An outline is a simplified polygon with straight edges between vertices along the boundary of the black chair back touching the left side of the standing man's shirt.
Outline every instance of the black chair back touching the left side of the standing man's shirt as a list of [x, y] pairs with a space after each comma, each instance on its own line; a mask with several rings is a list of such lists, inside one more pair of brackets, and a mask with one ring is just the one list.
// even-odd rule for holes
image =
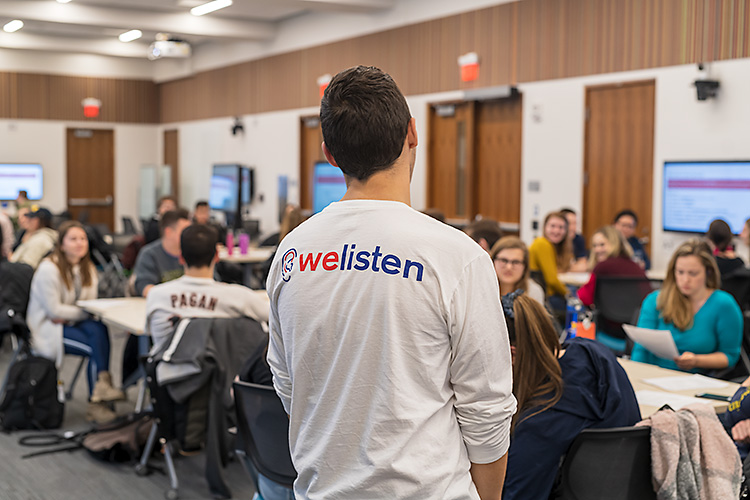
[[273, 387], [234, 382], [234, 399], [245, 453], [258, 472], [291, 488], [297, 471], [289, 453], [289, 418]]

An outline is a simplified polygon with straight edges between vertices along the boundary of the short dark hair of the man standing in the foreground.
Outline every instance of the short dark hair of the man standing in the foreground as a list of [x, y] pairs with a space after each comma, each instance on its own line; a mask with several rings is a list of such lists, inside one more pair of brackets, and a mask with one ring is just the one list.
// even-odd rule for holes
[[401, 156], [410, 120], [396, 82], [372, 66], [356, 66], [333, 77], [320, 102], [326, 148], [344, 174], [360, 181]]

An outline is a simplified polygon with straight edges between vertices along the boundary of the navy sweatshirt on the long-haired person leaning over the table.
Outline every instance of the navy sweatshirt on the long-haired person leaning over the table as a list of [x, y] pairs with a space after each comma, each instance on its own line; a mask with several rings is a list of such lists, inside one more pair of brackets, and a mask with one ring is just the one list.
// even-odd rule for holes
[[560, 401], [526, 420], [534, 409], [524, 410], [511, 434], [503, 500], [548, 498], [560, 459], [582, 430], [641, 420], [633, 386], [609, 349], [581, 338], [563, 349]]

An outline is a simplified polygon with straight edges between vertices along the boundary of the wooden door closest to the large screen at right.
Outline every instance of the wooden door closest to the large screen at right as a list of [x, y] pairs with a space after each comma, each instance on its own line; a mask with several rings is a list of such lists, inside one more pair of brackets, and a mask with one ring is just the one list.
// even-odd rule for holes
[[[586, 89], [583, 232], [611, 224], [629, 208], [639, 238], [651, 233], [654, 81]], [[647, 249], [648, 250], [648, 249]]]

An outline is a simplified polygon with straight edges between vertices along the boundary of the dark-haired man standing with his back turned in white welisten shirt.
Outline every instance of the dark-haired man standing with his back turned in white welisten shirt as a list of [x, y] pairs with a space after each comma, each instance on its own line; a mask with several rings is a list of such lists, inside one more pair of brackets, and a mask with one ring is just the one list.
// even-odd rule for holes
[[295, 494], [498, 499], [516, 402], [487, 252], [410, 208], [417, 132], [390, 76], [339, 73], [320, 119], [347, 191], [284, 238], [267, 284]]

